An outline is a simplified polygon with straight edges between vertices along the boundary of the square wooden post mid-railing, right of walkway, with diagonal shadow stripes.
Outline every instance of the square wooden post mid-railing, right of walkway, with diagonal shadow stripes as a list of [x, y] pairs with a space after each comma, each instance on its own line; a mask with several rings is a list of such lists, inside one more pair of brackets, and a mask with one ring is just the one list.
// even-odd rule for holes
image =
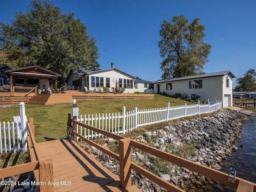
[[120, 185], [124, 189], [132, 186], [130, 142], [128, 138], [119, 141]]

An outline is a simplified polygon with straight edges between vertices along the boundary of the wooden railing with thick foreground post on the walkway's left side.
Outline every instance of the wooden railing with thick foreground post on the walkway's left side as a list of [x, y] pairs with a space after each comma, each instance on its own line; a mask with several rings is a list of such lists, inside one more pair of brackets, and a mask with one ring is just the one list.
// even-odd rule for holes
[[46, 185], [37, 185], [38, 190], [40, 190], [41, 192], [52, 192], [53, 185], [47, 185], [49, 181], [53, 182], [52, 160], [42, 160], [40, 154], [38, 154], [38, 149], [36, 147], [36, 141], [34, 138], [33, 118], [29, 118], [28, 131], [28, 149], [30, 153], [30, 162], [7, 168], [2, 168], [0, 169], [0, 177], [6, 178], [33, 171], [35, 182], [46, 182]]

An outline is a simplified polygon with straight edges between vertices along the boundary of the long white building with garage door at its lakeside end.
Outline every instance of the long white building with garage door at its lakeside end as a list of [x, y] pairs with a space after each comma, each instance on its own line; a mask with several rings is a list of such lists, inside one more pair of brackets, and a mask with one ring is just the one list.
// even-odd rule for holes
[[236, 78], [231, 71], [208, 73], [168, 80], [152, 82], [157, 93], [182, 96], [196, 94], [200, 100], [222, 100], [222, 107], [232, 106], [232, 78]]

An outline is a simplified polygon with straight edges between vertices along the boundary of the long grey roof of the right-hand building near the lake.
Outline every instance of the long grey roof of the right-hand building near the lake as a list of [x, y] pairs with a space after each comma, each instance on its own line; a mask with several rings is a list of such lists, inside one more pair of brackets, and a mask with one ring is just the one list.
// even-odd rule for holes
[[178, 78], [171, 78], [167, 80], [158, 80], [152, 83], [162, 83], [162, 82], [170, 82], [170, 81], [179, 81], [179, 80], [187, 80], [187, 79], [197, 79], [197, 78], [207, 78], [207, 77], [216, 77], [216, 76], [225, 76], [230, 74], [232, 78], [236, 78], [231, 71], [222, 71], [222, 72], [215, 72], [215, 73], [206, 73], [201, 75], [193, 75], [193, 76], [186, 76], [186, 77], [178, 77]]

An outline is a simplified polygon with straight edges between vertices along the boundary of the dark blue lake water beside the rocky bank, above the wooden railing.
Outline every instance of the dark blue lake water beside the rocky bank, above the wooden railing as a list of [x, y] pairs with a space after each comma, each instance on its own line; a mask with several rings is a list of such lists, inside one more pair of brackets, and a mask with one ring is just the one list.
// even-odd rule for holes
[[237, 177], [256, 183], [256, 116], [248, 116], [242, 132], [242, 138], [235, 144], [238, 151], [226, 156], [221, 171], [228, 173], [233, 167]]

